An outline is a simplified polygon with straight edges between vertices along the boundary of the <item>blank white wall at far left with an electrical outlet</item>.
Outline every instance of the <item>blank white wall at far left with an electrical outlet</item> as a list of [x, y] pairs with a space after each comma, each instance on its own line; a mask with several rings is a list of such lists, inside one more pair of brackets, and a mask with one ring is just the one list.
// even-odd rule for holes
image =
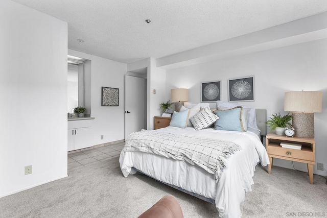
[[0, 26], [3, 197], [67, 176], [67, 23], [3, 0]]

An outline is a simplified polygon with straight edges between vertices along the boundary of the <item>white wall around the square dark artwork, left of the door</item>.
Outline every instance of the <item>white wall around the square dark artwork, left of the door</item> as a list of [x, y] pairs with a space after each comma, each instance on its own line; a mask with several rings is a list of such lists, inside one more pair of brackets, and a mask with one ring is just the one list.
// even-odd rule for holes
[[[92, 126], [94, 144], [124, 139], [126, 72], [127, 64], [92, 55], [91, 115], [96, 117]], [[119, 106], [101, 106], [102, 86], [119, 88]]]

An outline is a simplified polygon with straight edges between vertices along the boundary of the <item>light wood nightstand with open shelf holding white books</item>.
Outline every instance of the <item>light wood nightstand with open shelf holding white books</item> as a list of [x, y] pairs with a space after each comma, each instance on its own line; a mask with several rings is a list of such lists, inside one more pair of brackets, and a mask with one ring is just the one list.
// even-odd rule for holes
[[[302, 148], [301, 150], [282, 148], [281, 142], [302, 144]], [[268, 173], [271, 173], [273, 158], [307, 163], [310, 183], [313, 184], [313, 165], [316, 164], [315, 144], [314, 138], [297, 138], [268, 133], [266, 136], [266, 147], [270, 160]]]

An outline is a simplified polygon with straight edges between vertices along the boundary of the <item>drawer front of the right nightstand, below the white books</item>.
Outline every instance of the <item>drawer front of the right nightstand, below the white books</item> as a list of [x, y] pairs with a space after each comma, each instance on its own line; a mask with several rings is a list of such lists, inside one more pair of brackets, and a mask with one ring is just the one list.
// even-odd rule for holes
[[302, 147], [301, 150], [296, 150], [296, 149], [286, 149], [286, 148], [282, 148], [281, 146], [271, 145], [268, 148], [268, 155], [269, 154], [288, 157], [288, 158], [313, 161], [313, 152], [308, 147]]

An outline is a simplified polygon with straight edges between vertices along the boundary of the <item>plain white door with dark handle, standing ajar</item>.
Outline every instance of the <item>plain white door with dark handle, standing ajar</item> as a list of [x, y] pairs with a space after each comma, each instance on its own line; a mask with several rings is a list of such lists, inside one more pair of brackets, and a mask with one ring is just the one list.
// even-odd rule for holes
[[145, 79], [125, 76], [125, 139], [145, 129]]

